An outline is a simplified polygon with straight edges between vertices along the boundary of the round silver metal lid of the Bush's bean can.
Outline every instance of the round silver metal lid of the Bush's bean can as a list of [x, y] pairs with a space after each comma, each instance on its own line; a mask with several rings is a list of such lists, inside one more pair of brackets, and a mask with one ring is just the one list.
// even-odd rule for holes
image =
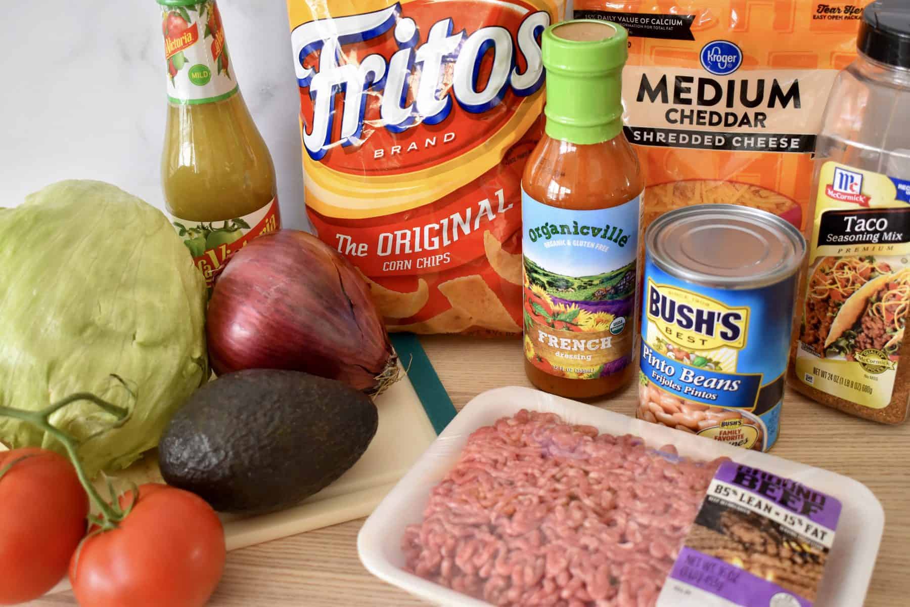
[[693, 205], [664, 213], [644, 236], [652, 261], [707, 287], [758, 288], [792, 276], [805, 256], [793, 224], [738, 205]]

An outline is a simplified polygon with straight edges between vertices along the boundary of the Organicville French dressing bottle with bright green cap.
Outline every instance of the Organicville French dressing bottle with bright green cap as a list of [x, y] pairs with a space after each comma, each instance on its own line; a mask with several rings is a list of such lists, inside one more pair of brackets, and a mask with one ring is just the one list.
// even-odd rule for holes
[[525, 371], [591, 398], [631, 381], [642, 176], [622, 133], [621, 25], [548, 27], [546, 135], [521, 179]]

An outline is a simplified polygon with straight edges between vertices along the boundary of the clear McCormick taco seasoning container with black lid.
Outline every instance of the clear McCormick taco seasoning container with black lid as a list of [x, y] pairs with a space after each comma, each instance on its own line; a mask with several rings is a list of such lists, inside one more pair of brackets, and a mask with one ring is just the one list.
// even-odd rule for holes
[[906, 420], [910, 365], [910, 5], [866, 6], [816, 146], [810, 243], [788, 381], [825, 405]]

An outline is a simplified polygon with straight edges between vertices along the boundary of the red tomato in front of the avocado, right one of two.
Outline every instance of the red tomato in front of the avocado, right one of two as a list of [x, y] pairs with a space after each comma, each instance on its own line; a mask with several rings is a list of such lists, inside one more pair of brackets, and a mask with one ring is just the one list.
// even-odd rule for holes
[[[120, 499], [126, 507], [130, 493]], [[112, 531], [90, 535], [69, 566], [76, 601], [91, 607], [201, 607], [225, 565], [221, 521], [206, 501], [161, 484]]]

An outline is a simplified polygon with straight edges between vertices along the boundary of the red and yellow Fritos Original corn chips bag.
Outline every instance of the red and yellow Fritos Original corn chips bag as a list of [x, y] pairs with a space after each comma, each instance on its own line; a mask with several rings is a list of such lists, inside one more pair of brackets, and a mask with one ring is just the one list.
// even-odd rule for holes
[[562, 0], [288, 0], [308, 216], [391, 330], [521, 333], [521, 172]]

